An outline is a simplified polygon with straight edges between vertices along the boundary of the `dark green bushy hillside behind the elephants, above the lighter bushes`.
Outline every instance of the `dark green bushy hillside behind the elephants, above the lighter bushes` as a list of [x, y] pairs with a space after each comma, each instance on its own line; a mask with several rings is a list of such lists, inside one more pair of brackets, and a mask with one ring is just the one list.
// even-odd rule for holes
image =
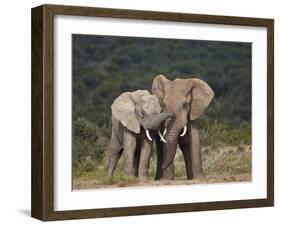
[[154, 77], [197, 77], [214, 90], [204, 115], [251, 121], [251, 43], [73, 35], [73, 115], [108, 128], [122, 92], [151, 90]]

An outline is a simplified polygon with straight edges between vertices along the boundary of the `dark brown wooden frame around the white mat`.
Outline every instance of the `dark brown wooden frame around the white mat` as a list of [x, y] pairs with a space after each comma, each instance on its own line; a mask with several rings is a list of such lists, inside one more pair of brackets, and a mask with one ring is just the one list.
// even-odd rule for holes
[[[267, 198], [99, 209], [54, 210], [54, 16], [126, 18], [267, 29]], [[265, 207], [274, 205], [273, 19], [42, 5], [32, 9], [32, 200], [31, 215], [50, 221]]]

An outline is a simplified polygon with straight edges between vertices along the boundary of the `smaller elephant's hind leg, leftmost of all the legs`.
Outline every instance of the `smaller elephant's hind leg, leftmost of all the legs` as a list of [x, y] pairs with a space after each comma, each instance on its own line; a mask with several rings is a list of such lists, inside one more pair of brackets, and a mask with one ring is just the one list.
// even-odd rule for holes
[[116, 137], [114, 131], [111, 135], [111, 147], [110, 147], [110, 156], [108, 160], [107, 176], [112, 176], [117, 165], [117, 162], [123, 152], [123, 148], [120, 145], [119, 140]]

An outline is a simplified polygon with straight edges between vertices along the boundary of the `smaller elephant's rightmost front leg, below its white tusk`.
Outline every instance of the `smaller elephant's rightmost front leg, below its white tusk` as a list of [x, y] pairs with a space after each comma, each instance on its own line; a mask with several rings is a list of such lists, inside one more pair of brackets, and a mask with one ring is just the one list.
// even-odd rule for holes
[[148, 139], [144, 139], [141, 146], [141, 155], [139, 163], [139, 177], [141, 179], [148, 178], [148, 169], [150, 163], [152, 143]]

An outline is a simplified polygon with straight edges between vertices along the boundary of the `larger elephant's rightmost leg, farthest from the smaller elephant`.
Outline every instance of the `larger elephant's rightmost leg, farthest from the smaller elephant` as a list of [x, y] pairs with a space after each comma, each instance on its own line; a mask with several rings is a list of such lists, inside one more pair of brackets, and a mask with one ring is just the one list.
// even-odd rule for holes
[[199, 130], [195, 122], [189, 123], [189, 146], [191, 151], [191, 165], [193, 178], [203, 177], [201, 145], [199, 138]]

